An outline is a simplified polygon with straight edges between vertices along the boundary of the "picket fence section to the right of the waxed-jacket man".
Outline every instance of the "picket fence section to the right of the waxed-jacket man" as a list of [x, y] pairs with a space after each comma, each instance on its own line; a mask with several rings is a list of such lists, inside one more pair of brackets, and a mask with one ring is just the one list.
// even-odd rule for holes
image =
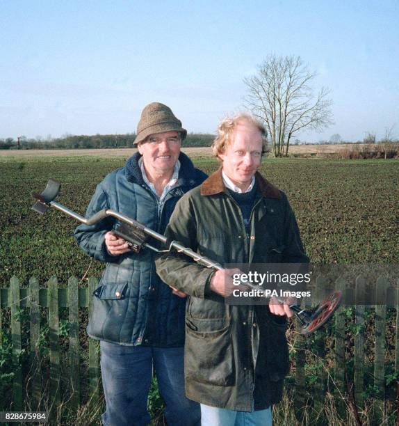
[[[385, 373], [386, 373], [386, 326], [387, 326], [387, 307], [396, 310], [395, 315], [395, 354], [394, 354], [394, 375], [399, 378], [399, 280], [395, 285], [389, 285], [387, 278], [380, 276], [375, 282], [373, 298], [377, 304], [370, 306], [375, 312], [374, 336], [366, 336], [368, 333], [368, 315], [366, 315], [366, 305], [361, 304], [366, 297], [366, 278], [358, 276], [355, 280], [355, 285], [351, 286], [343, 278], [338, 278], [335, 283], [331, 283], [327, 278], [318, 276], [316, 278], [316, 299], [320, 300], [323, 297], [318, 297], [317, 292], [323, 291], [323, 294], [329, 294], [332, 290], [341, 290], [343, 292], [344, 301], [352, 301], [349, 306], [353, 306], [355, 310], [355, 324], [352, 324], [352, 329], [348, 330], [345, 309], [347, 306], [341, 306], [335, 313], [334, 322], [334, 377], [327, 377], [327, 368], [320, 369], [318, 379], [314, 384], [313, 397], [316, 405], [323, 404], [325, 391], [327, 390], [327, 382], [334, 382], [334, 392], [337, 395], [348, 395], [351, 393], [351, 403], [355, 404], [358, 409], [361, 409], [365, 399], [365, 374], [366, 374], [366, 358], [365, 358], [365, 343], [374, 341], [374, 365], [373, 365], [373, 391], [375, 394], [375, 411], [377, 418], [384, 412], [384, 390]], [[349, 331], [349, 333], [348, 333]], [[355, 340], [354, 356], [348, 359], [345, 356], [345, 343], [349, 340], [350, 335]], [[320, 329], [314, 335], [316, 348], [316, 356], [320, 359], [325, 359], [325, 330]], [[373, 339], [371, 339], [373, 337]], [[295, 356], [295, 390], [296, 390], [296, 406], [306, 407], [307, 395], [305, 393], [305, 357], [301, 348], [304, 348], [306, 338], [300, 336], [299, 342], [296, 343], [297, 353]], [[353, 375], [348, 377], [347, 365], [349, 361], [353, 361]], [[396, 379], [396, 383], [399, 382]], [[348, 386], [350, 385], [350, 386]], [[329, 389], [331, 390], [331, 388]], [[375, 420], [377, 421], [377, 420]]]

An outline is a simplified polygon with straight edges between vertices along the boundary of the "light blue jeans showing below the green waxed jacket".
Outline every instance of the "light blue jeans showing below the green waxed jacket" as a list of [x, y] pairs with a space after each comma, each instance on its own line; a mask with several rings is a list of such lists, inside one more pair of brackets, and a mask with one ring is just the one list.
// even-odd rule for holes
[[201, 404], [201, 420], [204, 426], [272, 426], [270, 407], [259, 411], [234, 411]]

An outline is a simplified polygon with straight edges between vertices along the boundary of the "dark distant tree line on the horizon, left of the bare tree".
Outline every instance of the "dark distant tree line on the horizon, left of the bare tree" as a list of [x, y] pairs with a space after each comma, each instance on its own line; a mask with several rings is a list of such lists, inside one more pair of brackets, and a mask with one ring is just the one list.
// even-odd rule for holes
[[[0, 139], [0, 150], [49, 150], [49, 149], [90, 149], [90, 148], [132, 148], [136, 134], [95, 134], [81, 136], [64, 136], [61, 138], [28, 139], [20, 136], [17, 139]], [[211, 146], [213, 134], [189, 133], [184, 146]]]

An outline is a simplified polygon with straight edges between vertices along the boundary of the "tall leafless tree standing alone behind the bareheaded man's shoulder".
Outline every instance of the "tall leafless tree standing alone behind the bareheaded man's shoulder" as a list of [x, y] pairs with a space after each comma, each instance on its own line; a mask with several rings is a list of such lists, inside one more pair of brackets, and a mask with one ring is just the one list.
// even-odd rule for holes
[[329, 90], [323, 87], [315, 96], [314, 77], [300, 56], [269, 55], [256, 74], [244, 79], [245, 103], [266, 123], [276, 157], [288, 155], [291, 139], [305, 127], [321, 130], [332, 124]]

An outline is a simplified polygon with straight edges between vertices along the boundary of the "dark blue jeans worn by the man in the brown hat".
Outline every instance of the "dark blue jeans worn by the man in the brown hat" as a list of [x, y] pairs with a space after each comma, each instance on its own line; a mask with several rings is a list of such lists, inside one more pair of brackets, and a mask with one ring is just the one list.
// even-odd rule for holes
[[156, 372], [159, 393], [166, 404], [165, 417], [170, 426], [197, 426], [199, 404], [188, 400], [184, 390], [184, 349], [132, 347], [100, 342], [101, 377], [106, 426], [148, 425], [147, 397]]

